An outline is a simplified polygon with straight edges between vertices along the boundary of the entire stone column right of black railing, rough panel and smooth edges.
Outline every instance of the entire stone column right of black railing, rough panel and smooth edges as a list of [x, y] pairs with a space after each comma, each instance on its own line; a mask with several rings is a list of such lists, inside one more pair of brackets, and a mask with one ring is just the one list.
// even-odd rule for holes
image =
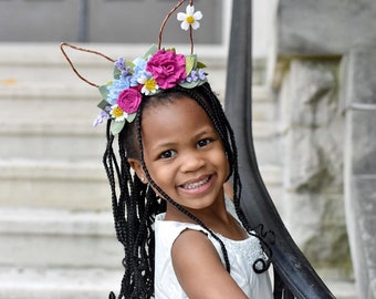
[[[284, 125], [286, 224], [313, 264], [331, 256], [346, 270], [346, 218], [362, 299], [376, 288], [375, 13], [375, 0], [279, 0], [268, 75]], [[337, 79], [330, 59], [344, 56]]]

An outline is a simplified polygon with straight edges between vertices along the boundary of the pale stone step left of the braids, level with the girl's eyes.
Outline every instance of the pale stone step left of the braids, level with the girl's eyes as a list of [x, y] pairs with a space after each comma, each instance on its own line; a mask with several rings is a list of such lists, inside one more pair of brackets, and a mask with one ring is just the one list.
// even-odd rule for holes
[[91, 124], [0, 124], [0, 138], [1, 159], [97, 162], [106, 146], [105, 125]]

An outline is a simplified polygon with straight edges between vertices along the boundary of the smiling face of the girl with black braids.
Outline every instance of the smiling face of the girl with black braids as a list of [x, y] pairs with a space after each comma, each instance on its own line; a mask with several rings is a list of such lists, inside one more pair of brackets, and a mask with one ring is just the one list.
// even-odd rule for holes
[[164, 101], [143, 114], [144, 158], [155, 183], [188, 209], [223, 200], [229, 164], [209, 116], [190, 97]]

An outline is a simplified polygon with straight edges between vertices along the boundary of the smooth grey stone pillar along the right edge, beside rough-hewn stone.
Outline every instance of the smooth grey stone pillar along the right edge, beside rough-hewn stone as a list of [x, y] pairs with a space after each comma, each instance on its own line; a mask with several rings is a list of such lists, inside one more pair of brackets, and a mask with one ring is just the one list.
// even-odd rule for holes
[[359, 298], [376, 298], [376, 48], [343, 63], [345, 202]]

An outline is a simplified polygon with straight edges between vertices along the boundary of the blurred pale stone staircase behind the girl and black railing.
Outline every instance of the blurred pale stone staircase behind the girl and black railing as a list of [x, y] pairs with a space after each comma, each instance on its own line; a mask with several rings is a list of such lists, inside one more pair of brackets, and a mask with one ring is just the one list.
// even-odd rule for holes
[[[93, 49], [113, 58], [127, 50], [134, 58], [147, 45]], [[197, 52], [223, 95], [223, 51]], [[108, 80], [107, 62], [80, 53], [72, 59], [91, 81]], [[283, 216], [275, 102], [262, 85], [253, 93], [260, 171]], [[96, 299], [118, 290], [123, 252], [101, 162], [104, 126], [92, 127], [98, 100], [58, 44], [0, 44], [0, 299]]]

